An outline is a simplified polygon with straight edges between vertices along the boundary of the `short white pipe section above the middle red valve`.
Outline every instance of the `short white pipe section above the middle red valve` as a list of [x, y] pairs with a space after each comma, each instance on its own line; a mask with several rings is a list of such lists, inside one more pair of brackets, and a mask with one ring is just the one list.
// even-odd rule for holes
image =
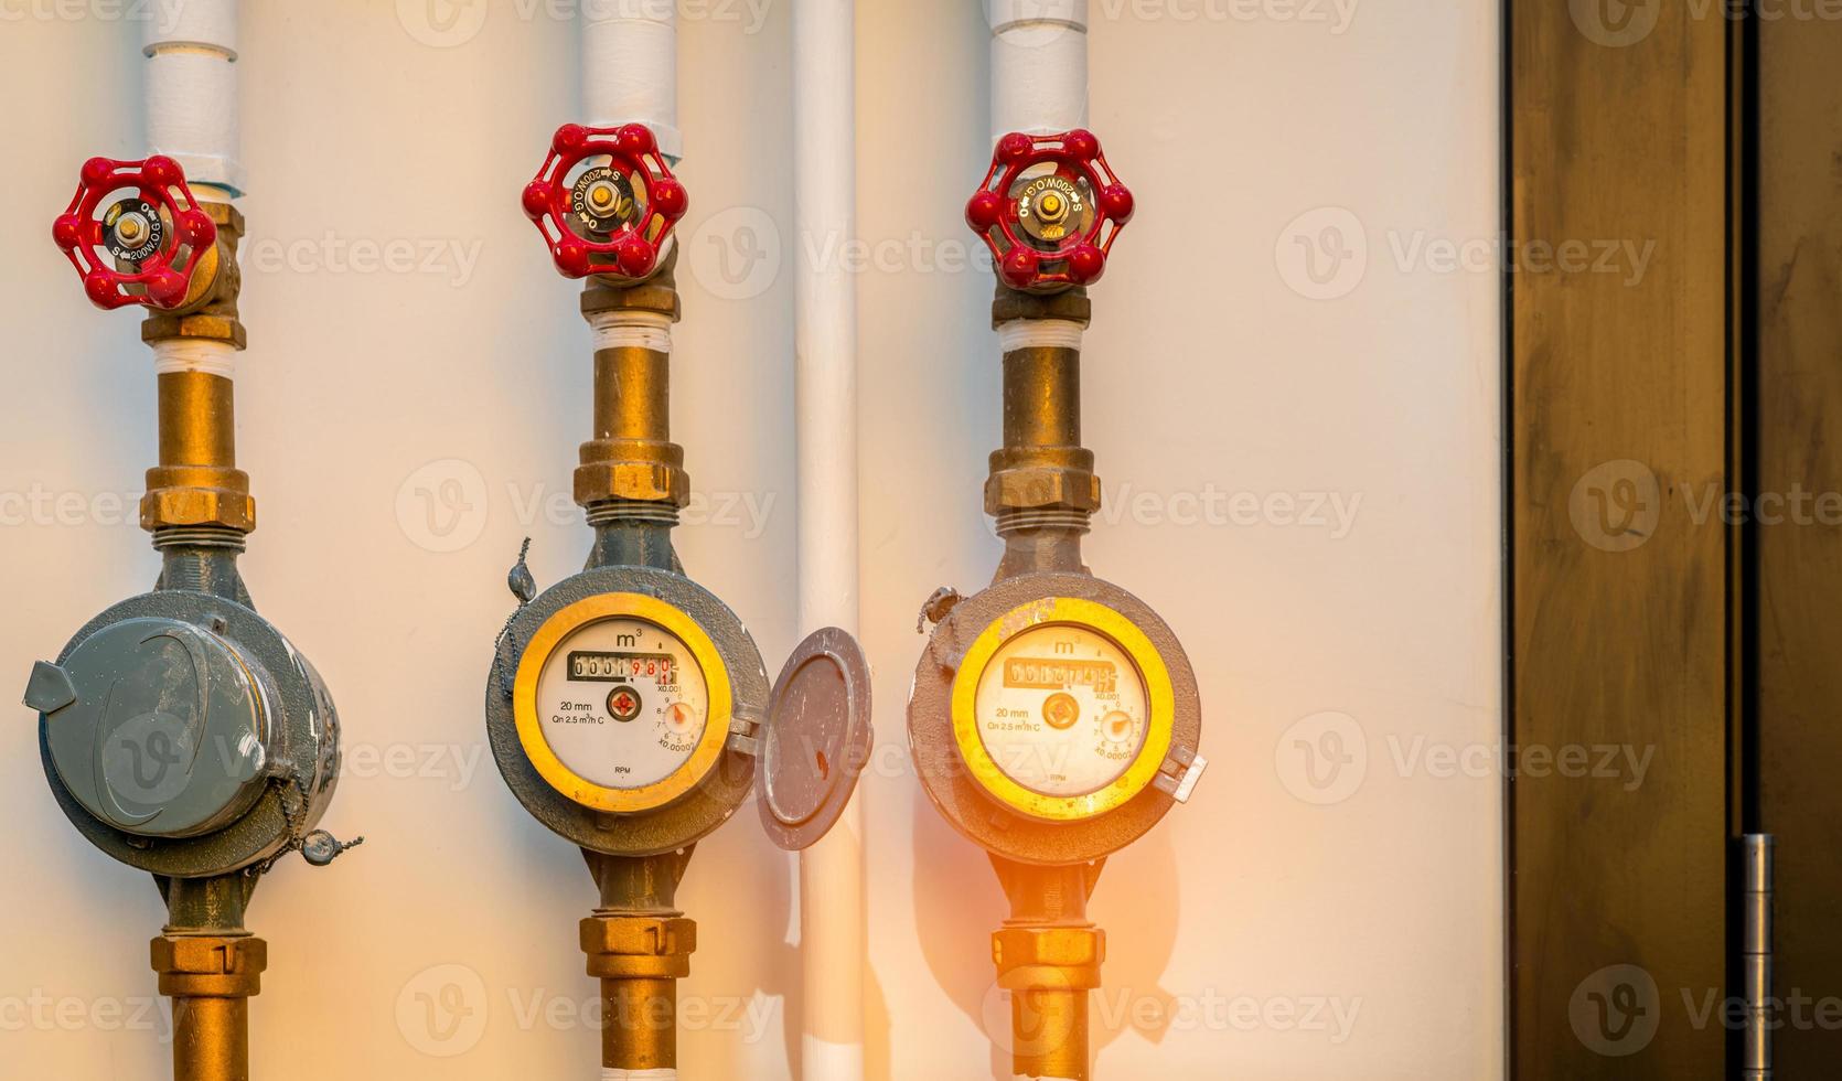
[[595, 127], [645, 123], [670, 160], [678, 131], [678, 0], [580, 0], [582, 116]]

